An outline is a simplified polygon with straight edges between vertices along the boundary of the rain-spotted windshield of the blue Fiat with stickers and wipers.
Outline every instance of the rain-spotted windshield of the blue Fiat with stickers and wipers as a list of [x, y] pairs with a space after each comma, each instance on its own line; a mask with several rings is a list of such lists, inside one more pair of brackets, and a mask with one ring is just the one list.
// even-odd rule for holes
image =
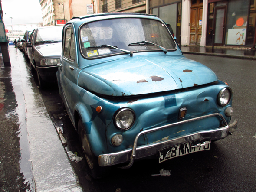
[[80, 46], [82, 55], [88, 58], [135, 51], [176, 49], [176, 44], [163, 23], [142, 18], [85, 23], [80, 28]]

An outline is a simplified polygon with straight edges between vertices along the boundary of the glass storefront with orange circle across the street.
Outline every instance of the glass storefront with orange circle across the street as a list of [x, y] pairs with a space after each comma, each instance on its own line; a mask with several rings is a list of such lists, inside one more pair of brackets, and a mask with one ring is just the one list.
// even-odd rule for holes
[[255, 45], [255, 17], [253, 16], [256, 13], [252, 8], [249, 12], [252, 1], [209, 1], [206, 45], [212, 45], [213, 40], [214, 45], [217, 46]]

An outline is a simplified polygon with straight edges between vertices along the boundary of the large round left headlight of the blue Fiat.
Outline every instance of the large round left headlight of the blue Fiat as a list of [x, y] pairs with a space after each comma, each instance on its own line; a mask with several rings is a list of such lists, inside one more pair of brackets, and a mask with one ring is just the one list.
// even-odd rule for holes
[[114, 118], [115, 127], [121, 130], [128, 130], [135, 122], [135, 113], [129, 108], [122, 108]]

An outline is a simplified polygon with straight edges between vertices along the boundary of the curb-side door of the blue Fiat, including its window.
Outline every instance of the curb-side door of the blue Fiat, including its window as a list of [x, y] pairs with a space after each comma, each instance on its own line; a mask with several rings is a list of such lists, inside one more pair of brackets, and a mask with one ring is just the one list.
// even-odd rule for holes
[[[72, 109], [74, 102], [71, 99], [72, 87], [76, 85], [75, 74], [77, 72], [77, 59], [75, 49], [75, 34], [72, 25], [68, 25], [64, 29], [62, 57], [60, 68], [60, 83], [63, 91], [64, 103], [69, 115], [73, 117]], [[72, 119], [72, 118], [71, 118]]]

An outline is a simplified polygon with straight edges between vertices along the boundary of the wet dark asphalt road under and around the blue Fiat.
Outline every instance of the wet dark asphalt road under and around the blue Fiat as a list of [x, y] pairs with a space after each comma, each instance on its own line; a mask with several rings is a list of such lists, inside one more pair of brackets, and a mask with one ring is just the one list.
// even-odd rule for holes
[[[256, 111], [256, 62], [213, 56], [185, 56], [208, 66], [220, 80], [230, 85], [235, 112], [233, 119], [238, 120], [236, 132], [212, 143], [209, 151], [177, 157], [161, 164], [157, 160], [138, 161], [126, 170], [115, 167], [108, 177], [99, 180], [87, 174], [85, 160], [72, 162], [85, 192], [115, 192], [118, 188], [121, 192], [256, 191], [256, 120], [253, 117]], [[36, 74], [33, 77], [38, 85]], [[63, 124], [67, 149], [82, 156], [77, 133], [62, 107], [57, 85], [49, 85], [47, 89], [40, 89], [40, 92], [53, 123]], [[15, 162], [19, 163], [18, 159]], [[161, 169], [171, 170], [171, 176], [151, 176], [158, 174]]]

